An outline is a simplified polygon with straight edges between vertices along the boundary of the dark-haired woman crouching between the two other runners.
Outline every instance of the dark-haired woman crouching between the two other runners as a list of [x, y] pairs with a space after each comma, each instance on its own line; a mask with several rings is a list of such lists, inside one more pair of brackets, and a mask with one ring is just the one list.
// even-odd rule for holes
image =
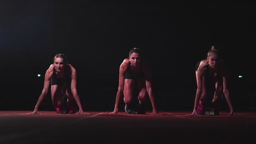
[[[133, 94], [137, 89], [137, 100], [133, 100]], [[128, 114], [145, 114], [145, 102], [147, 96], [152, 104], [151, 115], [158, 114], [152, 89], [152, 74], [149, 65], [143, 61], [140, 49], [133, 48], [129, 52], [129, 58], [125, 58], [119, 68], [119, 87], [115, 99], [114, 111], [119, 113], [118, 106], [121, 96], [124, 95], [125, 112]], [[137, 105], [138, 104], [138, 105]]]

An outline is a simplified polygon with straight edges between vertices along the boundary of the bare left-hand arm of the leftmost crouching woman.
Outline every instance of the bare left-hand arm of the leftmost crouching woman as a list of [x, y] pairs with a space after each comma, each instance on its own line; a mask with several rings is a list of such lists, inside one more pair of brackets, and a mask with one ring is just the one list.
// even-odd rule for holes
[[51, 76], [53, 75], [53, 68], [54, 68], [54, 65], [51, 64], [49, 69], [46, 70], [46, 73], [45, 73], [45, 76], [44, 76], [44, 88], [43, 88], [43, 91], [42, 91], [42, 93], [40, 94], [40, 96], [39, 96], [39, 98], [37, 100], [36, 106], [34, 107], [34, 111], [32, 112], [33, 114], [38, 113], [39, 105], [42, 103], [42, 101], [44, 100], [45, 96], [48, 94], [49, 85], [50, 85], [50, 79], [51, 79]]

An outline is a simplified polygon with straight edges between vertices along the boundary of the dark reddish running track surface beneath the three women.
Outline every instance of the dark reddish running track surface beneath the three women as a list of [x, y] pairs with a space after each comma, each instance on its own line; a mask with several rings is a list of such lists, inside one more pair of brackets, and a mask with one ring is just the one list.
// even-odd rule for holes
[[83, 115], [39, 111], [0, 111], [0, 143], [255, 143], [256, 112], [220, 116], [184, 116], [191, 111], [159, 115]]

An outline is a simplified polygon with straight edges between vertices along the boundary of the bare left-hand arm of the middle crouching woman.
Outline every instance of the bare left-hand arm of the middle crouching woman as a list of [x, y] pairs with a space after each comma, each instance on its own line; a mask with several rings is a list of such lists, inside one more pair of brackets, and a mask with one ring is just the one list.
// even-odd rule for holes
[[127, 59], [125, 59], [123, 61], [123, 63], [121, 63], [120, 68], [119, 68], [119, 85], [118, 85], [118, 92], [117, 95], [115, 97], [115, 107], [114, 107], [114, 111], [110, 112], [111, 114], [117, 114], [118, 112], [118, 106], [119, 106], [119, 101], [121, 96], [124, 94], [124, 74], [125, 71], [127, 70], [127, 64], [128, 64]]

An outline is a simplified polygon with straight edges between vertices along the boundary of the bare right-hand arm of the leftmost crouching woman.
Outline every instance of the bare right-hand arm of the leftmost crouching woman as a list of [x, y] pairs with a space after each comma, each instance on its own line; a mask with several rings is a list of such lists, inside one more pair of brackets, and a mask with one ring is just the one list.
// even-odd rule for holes
[[80, 114], [83, 113], [83, 107], [81, 105], [80, 98], [77, 92], [77, 71], [71, 64], [69, 64], [69, 66], [71, 67], [71, 92], [74, 96], [75, 102], [79, 107], [78, 114]]

